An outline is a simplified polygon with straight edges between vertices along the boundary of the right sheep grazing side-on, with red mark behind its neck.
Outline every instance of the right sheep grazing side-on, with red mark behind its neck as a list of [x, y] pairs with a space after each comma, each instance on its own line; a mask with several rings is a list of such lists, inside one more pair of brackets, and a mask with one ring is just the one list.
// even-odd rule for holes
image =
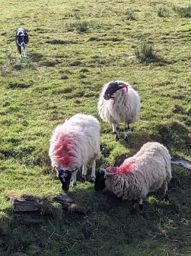
[[158, 142], [147, 142], [130, 158], [124, 160], [119, 167], [101, 167], [96, 173], [94, 188], [112, 191], [123, 200], [131, 200], [132, 213], [135, 203], [139, 200], [141, 214], [143, 199], [149, 192], [156, 191], [164, 184], [165, 197], [168, 201], [168, 182], [171, 174], [171, 156], [168, 149]]

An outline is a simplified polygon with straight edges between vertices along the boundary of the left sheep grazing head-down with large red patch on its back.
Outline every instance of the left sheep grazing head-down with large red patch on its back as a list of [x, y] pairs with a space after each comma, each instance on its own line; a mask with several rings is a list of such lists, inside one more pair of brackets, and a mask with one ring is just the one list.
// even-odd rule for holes
[[95, 181], [96, 159], [100, 158], [100, 123], [94, 116], [78, 113], [54, 129], [49, 156], [64, 191], [70, 179], [76, 187], [76, 174], [82, 166], [82, 180], [87, 180], [87, 164], [92, 163], [90, 182]]

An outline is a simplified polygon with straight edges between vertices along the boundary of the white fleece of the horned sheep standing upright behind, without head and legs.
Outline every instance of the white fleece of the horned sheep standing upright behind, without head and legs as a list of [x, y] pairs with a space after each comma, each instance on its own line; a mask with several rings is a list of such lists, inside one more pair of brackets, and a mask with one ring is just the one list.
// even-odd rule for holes
[[98, 113], [104, 122], [114, 124], [122, 122], [134, 123], [138, 120], [140, 113], [140, 97], [128, 83], [124, 81], [116, 82], [125, 83], [128, 86], [128, 91], [126, 88], [122, 88], [113, 94], [113, 98], [104, 100], [104, 93], [110, 82], [106, 83], [98, 100]]

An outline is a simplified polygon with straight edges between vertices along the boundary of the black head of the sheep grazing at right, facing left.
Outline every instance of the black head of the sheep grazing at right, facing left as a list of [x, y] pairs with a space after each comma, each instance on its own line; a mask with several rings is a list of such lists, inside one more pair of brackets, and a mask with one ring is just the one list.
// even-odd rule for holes
[[96, 180], [95, 180], [95, 190], [96, 191], [101, 191], [106, 187], [105, 180], [106, 176], [114, 175], [114, 173], [110, 173], [107, 171], [105, 165], [101, 165], [100, 168], [98, 168], [96, 172]]

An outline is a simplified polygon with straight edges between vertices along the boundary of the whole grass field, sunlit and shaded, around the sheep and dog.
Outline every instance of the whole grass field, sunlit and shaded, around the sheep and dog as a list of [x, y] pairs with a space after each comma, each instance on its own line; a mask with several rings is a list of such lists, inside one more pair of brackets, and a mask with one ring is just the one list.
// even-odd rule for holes
[[[172, 165], [170, 201], [148, 197], [144, 216], [131, 203], [70, 188], [68, 210], [48, 149], [56, 125], [76, 113], [101, 122], [101, 164], [116, 165], [154, 140], [191, 161], [190, 1], [0, 0], [0, 255], [191, 255], [190, 171]], [[16, 54], [16, 29], [29, 34]], [[146, 53], [147, 50], [147, 53]], [[124, 80], [140, 94], [140, 120], [127, 144], [101, 121], [104, 83]], [[122, 128], [122, 126], [121, 126]], [[44, 202], [39, 213], [14, 212], [9, 198]], [[29, 224], [38, 219], [39, 224]]]

